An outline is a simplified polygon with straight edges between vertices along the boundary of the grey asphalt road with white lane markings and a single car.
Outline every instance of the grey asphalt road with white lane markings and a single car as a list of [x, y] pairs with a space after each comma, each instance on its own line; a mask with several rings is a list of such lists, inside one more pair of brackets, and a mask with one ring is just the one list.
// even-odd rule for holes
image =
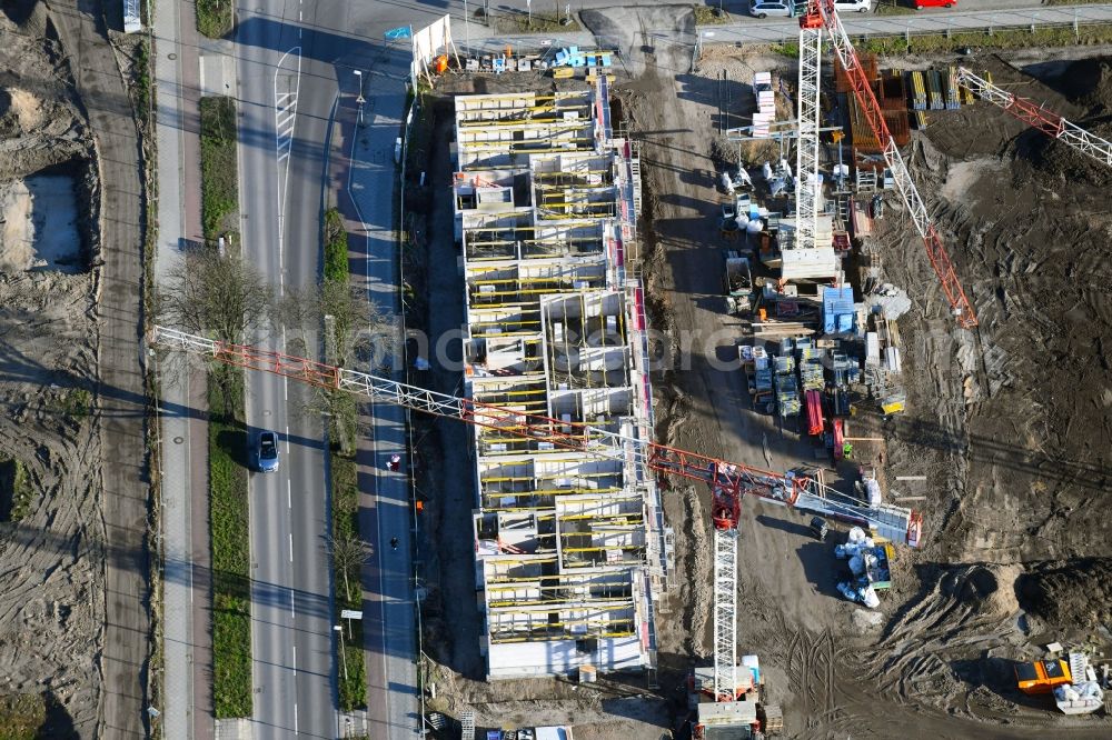
[[[334, 90], [304, 29], [337, 4], [237, 7], [244, 254], [279, 291], [317, 281]], [[284, 349], [280, 334], [256, 341]], [[300, 392], [282, 378], [248, 376], [252, 434], [281, 437], [280, 470], [250, 480], [256, 738], [337, 736], [325, 448], [319, 422], [296, 412]]]

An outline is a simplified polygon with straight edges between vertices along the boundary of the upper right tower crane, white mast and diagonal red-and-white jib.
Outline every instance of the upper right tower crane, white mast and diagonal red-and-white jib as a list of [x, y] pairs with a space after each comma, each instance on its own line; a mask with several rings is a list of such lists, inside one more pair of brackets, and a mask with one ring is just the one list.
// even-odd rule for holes
[[[848, 34], [846, 34], [845, 28], [842, 26], [842, 21], [834, 10], [834, 0], [807, 0], [806, 9], [800, 17], [800, 157], [810, 158], [810, 153], [803, 153], [802, 127], [804, 126], [805, 111], [807, 118], [812, 114], [812, 108], [815, 116], [818, 113], [817, 76], [818, 54], [822, 47], [821, 39], [816, 39], [816, 37], [821, 36], [822, 29], [825, 29], [831, 37], [831, 46], [834, 49], [834, 53], [837, 54], [838, 61], [842, 63], [842, 69], [845, 70], [853, 96], [857, 100], [857, 104], [861, 107], [870, 129], [872, 129], [876, 140], [883, 147], [882, 154], [884, 162], [892, 172], [896, 190], [900, 192], [900, 197], [903, 198], [904, 206], [907, 207], [907, 212], [911, 213], [915, 230], [919, 231], [920, 237], [923, 239], [926, 256], [931, 260], [931, 267], [934, 268], [935, 273], [939, 276], [939, 281], [942, 283], [942, 291], [946, 294], [946, 300], [950, 301], [952, 313], [957, 319], [959, 326], [963, 328], [970, 329], [977, 326], [973, 306], [965, 297], [965, 291], [962, 290], [961, 282], [957, 280], [957, 273], [954, 271], [954, 266], [946, 253], [945, 244], [942, 242], [942, 238], [934, 227], [934, 221], [931, 219], [931, 214], [927, 212], [926, 206], [923, 203], [923, 199], [915, 188], [915, 181], [907, 171], [907, 166], [904, 164], [903, 157], [896, 148], [896, 142], [892, 138], [891, 131], [888, 131], [887, 123], [884, 122], [881, 106], [876, 101], [876, 96], [873, 93], [872, 87], [870, 87], [864, 68], [857, 59], [857, 52], [854, 50]], [[804, 72], [806, 72], [806, 86], [804, 84]], [[811, 126], [810, 121], [807, 126]], [[817, 142], [817, 132], [815, 141]], [[814, 151], [814, 161], [815, 166], [817, 166], [817, 149]], [[813, 171], [807, 170], [806, 176], [804, 176], [801, 159], [801, 169], [797, 171], [800, 180], [810, 182]], [[798, 192], [803, 198], [814, 198], [817, 193], [817, 187], [816, 176], [814, 188], [811, 188], [808, 184]], [[798, 206], [801, 212], [803, 203], [804, 201], [801, 200]], [[813, 230], [814, 220], [804, 218], [802, 214], [801, 227], [808, 220]]]

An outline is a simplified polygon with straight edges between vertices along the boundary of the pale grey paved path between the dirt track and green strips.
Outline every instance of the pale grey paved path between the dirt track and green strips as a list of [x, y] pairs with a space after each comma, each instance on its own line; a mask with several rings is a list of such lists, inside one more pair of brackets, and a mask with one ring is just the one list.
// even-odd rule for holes
[[[155, 82], [158, 101], [158, 222], [155, 281], [181, 260], [182, 240], [200, 241], [199, 59], [192, 2], [158, 2]], [[160, 363], [163, 662], [162, 737], [214, 736], [208, 429], [203, 370], [182, 356]]]

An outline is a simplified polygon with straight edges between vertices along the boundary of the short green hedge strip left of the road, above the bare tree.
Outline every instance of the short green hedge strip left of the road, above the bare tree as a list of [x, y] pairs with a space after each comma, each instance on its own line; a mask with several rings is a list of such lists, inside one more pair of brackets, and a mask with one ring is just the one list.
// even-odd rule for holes
[[236, 103], [225, 96], [200, 100], [201, 223], [215, 243], [236, 229], [239, 173], [236, 160]]

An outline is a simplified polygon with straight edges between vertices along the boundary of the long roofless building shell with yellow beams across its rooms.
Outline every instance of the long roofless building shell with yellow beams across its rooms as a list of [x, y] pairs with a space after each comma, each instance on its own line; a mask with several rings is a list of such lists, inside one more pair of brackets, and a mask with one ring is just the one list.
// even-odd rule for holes
[[[651, 439], [638, 162], [589, 91], [456, 98], [466, 394]], [[653, 669], [667, 540], [643, 464], [475, 427], [490, 679]], [[584, 439], [589, 446], [590, 441]]]

